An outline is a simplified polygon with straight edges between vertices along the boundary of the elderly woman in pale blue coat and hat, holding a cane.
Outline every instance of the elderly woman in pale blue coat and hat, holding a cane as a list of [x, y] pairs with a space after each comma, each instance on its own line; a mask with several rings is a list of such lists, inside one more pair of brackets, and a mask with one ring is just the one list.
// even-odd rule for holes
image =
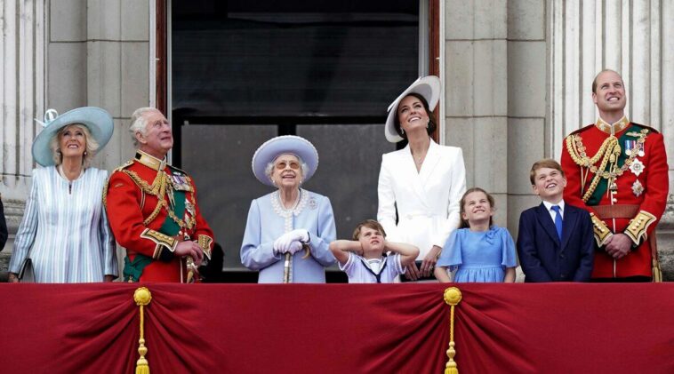
[[251, 203], [241, 262], [260, 271], [258, 282], [325, 282], [325, 267], [335, 259], [330, 200], [301, 188], [318, 167], [309, 140], [287, 135], [270, 139], [253, 155], [255, 178], [277, 190]]

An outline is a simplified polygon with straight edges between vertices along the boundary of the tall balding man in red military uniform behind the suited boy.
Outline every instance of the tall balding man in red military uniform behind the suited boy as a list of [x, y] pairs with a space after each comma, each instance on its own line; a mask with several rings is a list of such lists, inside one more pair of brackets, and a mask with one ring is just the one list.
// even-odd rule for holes
[[597, 123], [564, 141], [564, 199], [590, 211], [598, 244], [593, 280], [648, 282], [659, 270], [652, 234], [669, 191], [662, 134], [625, 117], [625, 87], [613, 70], [597, 75], [592, 99]]

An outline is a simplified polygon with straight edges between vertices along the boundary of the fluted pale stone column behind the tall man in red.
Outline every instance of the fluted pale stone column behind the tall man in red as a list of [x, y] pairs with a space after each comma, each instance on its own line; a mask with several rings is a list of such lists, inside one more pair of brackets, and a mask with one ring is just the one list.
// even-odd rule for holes
[[547, 3], [550, 84], [546, 136], [548, 152], [558, 158], [562, 139], [594, 123], [594, 76], [603, 68], [622, 74], [630, 120], [662, 132], [669, 151], [670, 199], [658, 227], [665, 279], [674, 280], [674, 4], [670, 1], [598, 0]]

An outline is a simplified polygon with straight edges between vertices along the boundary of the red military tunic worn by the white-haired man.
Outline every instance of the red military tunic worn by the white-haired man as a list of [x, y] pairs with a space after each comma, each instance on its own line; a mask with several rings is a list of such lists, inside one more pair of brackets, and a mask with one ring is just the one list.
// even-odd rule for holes
[[[174, 192], [178, 191], [185, 196], [181, 217], [174, 208]], [[194, 182], [162, 160], [137, 151], [133, 160], [110, 175], [106, 207], [116, 241], [126, 248], [129, 260], [133, 262], [138, 254], [149, 258], [140, 281], [185, 282], [186, 259], [173, 256], [182, 240], [196, 241], [205, 257], [211, 258], [213, 231], [199, 211]], [[164, 225], [180, 231], [167, 235]]]

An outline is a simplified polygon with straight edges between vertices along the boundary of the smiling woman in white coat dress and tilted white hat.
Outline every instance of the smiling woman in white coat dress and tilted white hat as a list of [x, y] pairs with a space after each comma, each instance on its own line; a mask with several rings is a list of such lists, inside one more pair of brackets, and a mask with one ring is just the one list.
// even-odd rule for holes
[[430, 138], [439, 97], [437, 76], [418, 79], [390, 105], [385, 127], [390, 142], [407, 139], [408, 144], [381, 157], [377, 219], [391, 241], [419, 247], [417, 261], [405, 272], [412, 281], [433, 278], [437, 257], [459, 226], [459, 202], [466, 191], [461, 148]]

